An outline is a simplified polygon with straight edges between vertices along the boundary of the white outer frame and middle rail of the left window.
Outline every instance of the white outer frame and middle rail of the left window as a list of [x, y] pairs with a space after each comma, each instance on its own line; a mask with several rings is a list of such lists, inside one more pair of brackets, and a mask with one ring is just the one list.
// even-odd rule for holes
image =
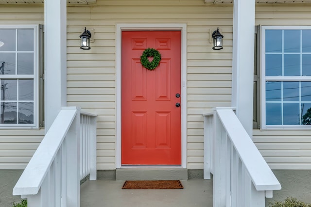
[[[0, 124], [0, 129], [37, 129], [39, 128], [39, 25], [0, 25], [0, 29], [33, 29], [34, 30], [34, 74], [33, 75], [0, 75], [1, 79], [34, 80], [34, 123], [33, 124]], [[1, 51], [2, 52], [2, 51]], [[0, 53], [1, 53], [0, 52]]]

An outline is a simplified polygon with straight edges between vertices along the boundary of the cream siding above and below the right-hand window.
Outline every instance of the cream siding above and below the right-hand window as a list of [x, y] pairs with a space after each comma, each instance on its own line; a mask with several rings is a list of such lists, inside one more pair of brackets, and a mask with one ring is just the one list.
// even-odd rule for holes
[[[310, 6], [257, 5], [256, 24], [310, 25]], [[310, 130], [254, 130], [253, 140], [272, 169], [311, 169]]]

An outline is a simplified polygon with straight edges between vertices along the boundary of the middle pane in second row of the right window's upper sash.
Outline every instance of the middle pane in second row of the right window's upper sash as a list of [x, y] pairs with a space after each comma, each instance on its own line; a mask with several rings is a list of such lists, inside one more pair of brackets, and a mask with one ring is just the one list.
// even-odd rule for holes
[[300, 55], [284, 55], [284, 76], [300, 76]]

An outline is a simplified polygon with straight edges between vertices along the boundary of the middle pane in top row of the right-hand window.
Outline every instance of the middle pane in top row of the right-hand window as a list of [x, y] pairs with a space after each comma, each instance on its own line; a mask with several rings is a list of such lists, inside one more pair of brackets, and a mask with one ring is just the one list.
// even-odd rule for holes
[[300, 30], [284, 30], [284, 52], [300, 52]]

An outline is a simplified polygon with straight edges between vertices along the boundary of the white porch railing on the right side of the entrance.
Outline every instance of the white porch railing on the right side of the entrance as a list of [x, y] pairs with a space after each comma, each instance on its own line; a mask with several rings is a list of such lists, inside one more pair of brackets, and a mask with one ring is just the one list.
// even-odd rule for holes
[[265, 207], [281, 185], [234, 111], [204, 115], [204, 178], [213, 175], [213, 207]]

